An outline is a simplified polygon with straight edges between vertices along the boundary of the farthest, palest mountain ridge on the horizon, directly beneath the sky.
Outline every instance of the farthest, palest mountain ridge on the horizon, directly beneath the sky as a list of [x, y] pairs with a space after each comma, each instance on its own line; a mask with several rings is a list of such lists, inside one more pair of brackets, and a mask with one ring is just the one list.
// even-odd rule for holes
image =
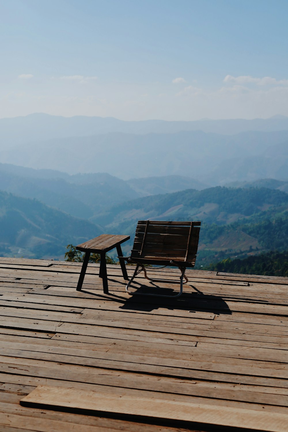
[[274, 116], [268, 119], [256, 118], [197, 121], [122, 121], [113, 117], [61, 117], [44, 113], [25, 117], [0, 119], [0, 142], [6, 146], [17, 146], [43, 139], [87, 137], [111, 132], [146, 134], [175, 133], [181, 130], [202, 130], [206, 133], [234, 135], [245, 131], [288, 130], [288, 117]]

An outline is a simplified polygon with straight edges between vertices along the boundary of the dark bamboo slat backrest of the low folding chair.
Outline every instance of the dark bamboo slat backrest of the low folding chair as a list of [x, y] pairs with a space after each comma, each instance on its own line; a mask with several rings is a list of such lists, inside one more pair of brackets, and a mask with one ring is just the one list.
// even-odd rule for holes
[[194, 267], [201, 222], [162, 222], [139, 220], [131, 258], [147, 263], [171, 260]]

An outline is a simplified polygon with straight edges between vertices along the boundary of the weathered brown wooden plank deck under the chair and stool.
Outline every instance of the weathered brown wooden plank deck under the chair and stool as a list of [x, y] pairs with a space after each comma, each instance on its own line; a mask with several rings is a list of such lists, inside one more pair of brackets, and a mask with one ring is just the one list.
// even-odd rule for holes
[[[119, 266], [110, 295], [97, 264], [82, 292], [81, 264], [0, 268], [1, 432], [288, 430], [287, 278], [188, 270], [182, 297], [157, 300], [127, 295]], [[80, 410], [21, 406], [39, 385], [73, 388]]]

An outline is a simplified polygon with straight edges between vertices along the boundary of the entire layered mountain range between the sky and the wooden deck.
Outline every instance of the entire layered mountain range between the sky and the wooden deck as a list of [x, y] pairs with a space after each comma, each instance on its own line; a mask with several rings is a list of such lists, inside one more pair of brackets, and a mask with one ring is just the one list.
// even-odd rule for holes
[[0, 119], [0, 161], [0, 254], [63, 258], [101, 232], [133, 237], [147, 218], [200, 219], [199, 265], [287, 247], [286, 117], [31, 114]]

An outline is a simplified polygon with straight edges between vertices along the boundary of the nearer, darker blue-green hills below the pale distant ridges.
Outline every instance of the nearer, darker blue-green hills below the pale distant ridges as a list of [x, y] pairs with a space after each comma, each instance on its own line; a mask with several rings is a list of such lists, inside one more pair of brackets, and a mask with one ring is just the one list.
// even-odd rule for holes
[[[123, 245], [129, 253], [138, 219], [200, 219], [198, 266], [225, 257], [245, 257], [269, 248], [287, 247], [288, 194], [279, 188], [287, 187], [288, 182], [263, 179], [245, 183], [244, 188], [218, 186], [143, 196], [158, 189], [182, 187], [190, 179], [137, 179], [139, 190], [135, 191], [130, 181], [108, 174], [59, 173], [57, 178], [53, 171], [54, 178], [49, 179], [45, 178], [49, 171], [21, 168], [24, 177], [15, 174], [19, 167], [0, 168], [2, 186], [22, 194], [17, 197], [0, 192], [1, 255], [63, 259], [66, 245], [79, 244], [102, 232], [130, 235], [131, 241]], [[34, 195], [34, 199], [23, 197], [27, 194]], [[137, 194], [142, 197], [131, 200]]]

